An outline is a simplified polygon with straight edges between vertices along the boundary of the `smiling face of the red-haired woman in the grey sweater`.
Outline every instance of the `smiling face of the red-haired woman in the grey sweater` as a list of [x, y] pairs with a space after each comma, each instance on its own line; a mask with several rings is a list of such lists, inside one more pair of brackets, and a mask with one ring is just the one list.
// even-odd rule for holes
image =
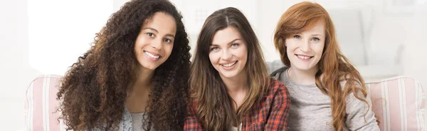
[[325, 26], [322, 21], [312, 28], [294, 34], [285, 41], [290, 66], [298, 70], [317, 70], [325, 47]]

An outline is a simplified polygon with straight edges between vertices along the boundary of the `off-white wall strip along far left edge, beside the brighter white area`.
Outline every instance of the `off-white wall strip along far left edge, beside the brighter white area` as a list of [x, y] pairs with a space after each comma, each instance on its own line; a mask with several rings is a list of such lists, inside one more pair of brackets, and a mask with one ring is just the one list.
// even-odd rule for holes
[[32, 78], [40, 75], [28, 63], [26, 0], [0, 1], [0, 127], [23, 127], [23, 96]]

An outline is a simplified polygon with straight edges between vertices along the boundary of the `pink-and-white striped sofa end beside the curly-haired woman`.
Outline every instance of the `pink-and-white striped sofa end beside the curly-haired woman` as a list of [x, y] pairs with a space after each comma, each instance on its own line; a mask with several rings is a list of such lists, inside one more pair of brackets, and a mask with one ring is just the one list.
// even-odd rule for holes
[[33, 80], [26, 92], [26, 127], [34, 131], [64, 130], [63, 120], [58, 121], [60, 112], [56, 112], [59, 101], [59, 75], [43, 75]]

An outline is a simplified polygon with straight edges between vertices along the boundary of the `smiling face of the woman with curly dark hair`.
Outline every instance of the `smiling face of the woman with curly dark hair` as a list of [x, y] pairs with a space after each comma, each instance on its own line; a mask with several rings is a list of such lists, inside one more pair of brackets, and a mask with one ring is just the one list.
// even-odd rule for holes
[[135, 41], [135, 56], [140, 66], [155, 70], [169, 58], [174, 47], [175, 19], [163, 12], [155, 13], [139, 31]]

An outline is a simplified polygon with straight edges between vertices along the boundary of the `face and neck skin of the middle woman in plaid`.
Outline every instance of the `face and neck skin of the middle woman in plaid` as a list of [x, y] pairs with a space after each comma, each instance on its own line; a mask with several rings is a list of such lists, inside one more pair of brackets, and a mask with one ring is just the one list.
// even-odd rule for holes
[[228, 94], [236, 101], [237, 109], [246, 96], [246, 61], [248, 48], [241, 33], [228, 26], [217, 31], [210, 47], [209, 59], [218, 70], [221, 79], [228, 88]]

